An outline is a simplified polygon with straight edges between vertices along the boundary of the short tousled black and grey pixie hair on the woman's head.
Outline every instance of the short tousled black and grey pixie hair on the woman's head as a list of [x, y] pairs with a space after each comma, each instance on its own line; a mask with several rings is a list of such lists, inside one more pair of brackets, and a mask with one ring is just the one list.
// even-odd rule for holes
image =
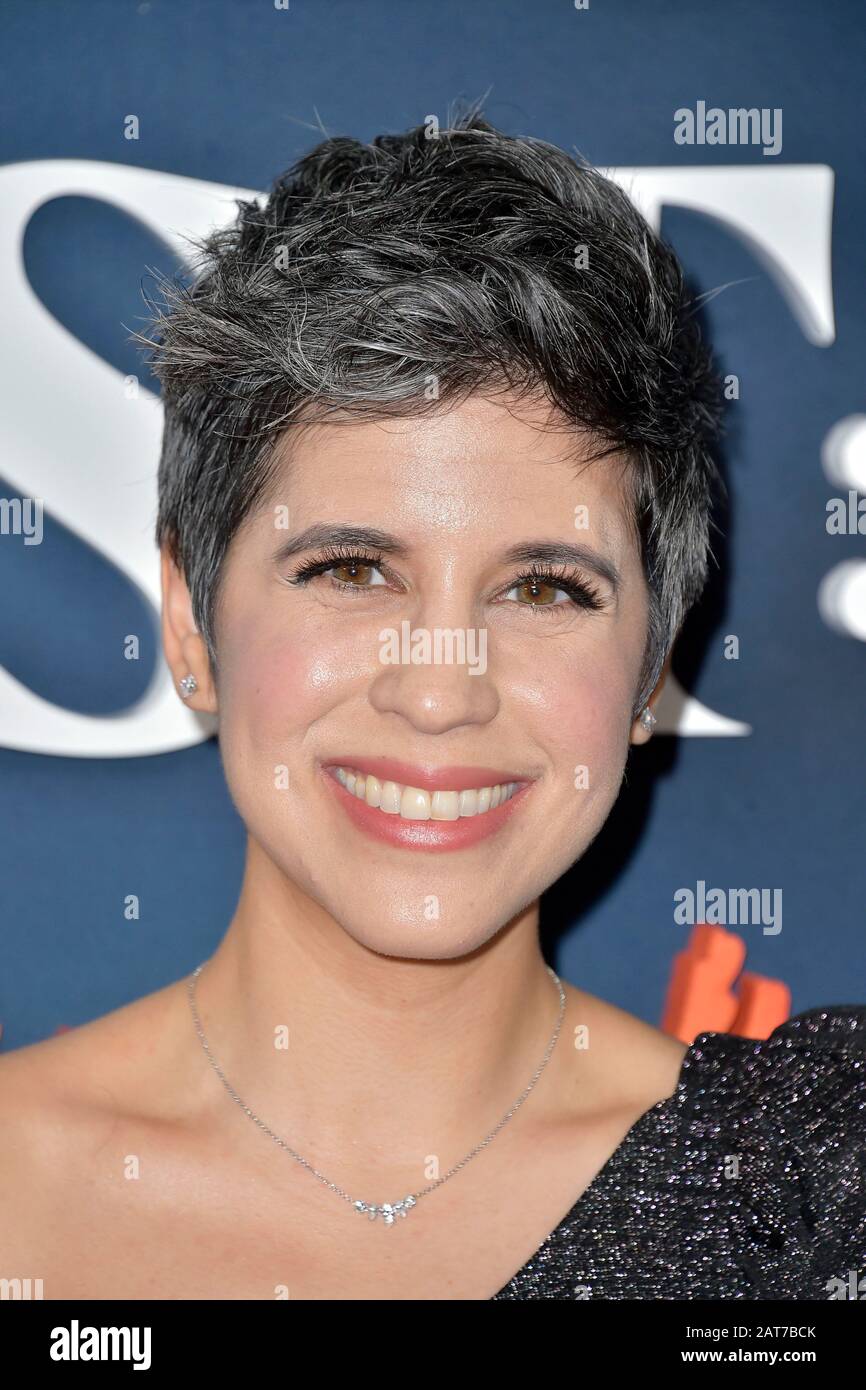
[[592, 446], [582, 459], [623, 463], [649, 591], [637, 714], [705, 587], [724, 491], [721, 382], [673, 250], [582, 156], [477, 106], [446, 129], [325, 139], [264, 206], [236, 206], [189, 238], [199, 272], [161, 277], [150, 336], [132, 335], [164, 402], [157, 543], [214, 677], [222, 563], [284, 431], [542, 393]]

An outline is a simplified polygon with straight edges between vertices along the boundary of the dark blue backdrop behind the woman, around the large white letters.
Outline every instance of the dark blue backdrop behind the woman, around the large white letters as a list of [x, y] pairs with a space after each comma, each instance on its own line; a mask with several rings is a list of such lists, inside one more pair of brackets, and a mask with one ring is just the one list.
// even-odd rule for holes
[[[689, 931], [674, 920], [674, 894], [698, 880], [783, 890], [781, 933], [740, 930], [748, 969], [784, 980], [794, 1012], [866, 1001], [866, 632], [838, 631], [816, 599], [835, 566], [866, 560], [866, 537], [827, 532], [827, 500], [845, 489], [822, 467], [833, 427], [866, 409], [860, 19], [855, 0], [591, 0], [585, 11], [567, 0], [291, 0], [285, 11], [254, 0], [7, 0], [1, 10], [1, 165], [108, 161], [264, 190], [322, 138], [320, 121], [370, 139], [430, 113], [445, 122], [456, 97], [485, 96], [485, 115], [505, 131], [577, 146], [602, 167], [834, 171], [827, 343], [808, 339], [753, 246], [699, 211], [663, 215], [695, 285], [727, 286], [708, 297], [705, 321], [740, 381], [721, 573], [674, 670], [689, 695], [752, 731], [655, 738], [545, 916], [566, 979], [653, 1023]], [[699, 100], [780, 108], [780, 154], [677, 145], [674, 111]], [[138, 140], [124, 138], [129, 113]], [[60, 197], [33, 213], [21, 254], [46, 309], [147, 385], [126, 339], [145, 313], [146, 267], [175, 265], [167, 243], [106, 202]], [[26, 327], [4, 320], [14, 343]], [[57, 409], [50, 375], [39, 391], [44, 411]], [[0, 459], [0, 477], [15, 475]], [[15, 488], [0, 481], [0, 495]], [[0, 537], [0, 664], [46, 701], [104, 716], [147, 688], [156, 617], [51, 516], [50, 496], [44, 505], [40, 546]], [[142, 634], [138, 663], [107, 656], [125, 632]], [[728, 634], [738, 660], [726, 657]], [[213, 739], [135, 758], [21, 751], [1, 730], [0, 744], [0, 1022], [11, 1048], [210, 954], [234, 909], [243, 835]], [[124, 916], [128, 894], [140, 898], [136, 922]]]

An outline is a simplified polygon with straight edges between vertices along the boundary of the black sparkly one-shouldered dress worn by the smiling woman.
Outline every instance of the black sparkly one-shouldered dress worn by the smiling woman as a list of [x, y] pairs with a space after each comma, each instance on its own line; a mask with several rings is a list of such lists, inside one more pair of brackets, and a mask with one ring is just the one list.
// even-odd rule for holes
[[866, 1005], [701, 1033], [500, 1298], [866, 1301]]

